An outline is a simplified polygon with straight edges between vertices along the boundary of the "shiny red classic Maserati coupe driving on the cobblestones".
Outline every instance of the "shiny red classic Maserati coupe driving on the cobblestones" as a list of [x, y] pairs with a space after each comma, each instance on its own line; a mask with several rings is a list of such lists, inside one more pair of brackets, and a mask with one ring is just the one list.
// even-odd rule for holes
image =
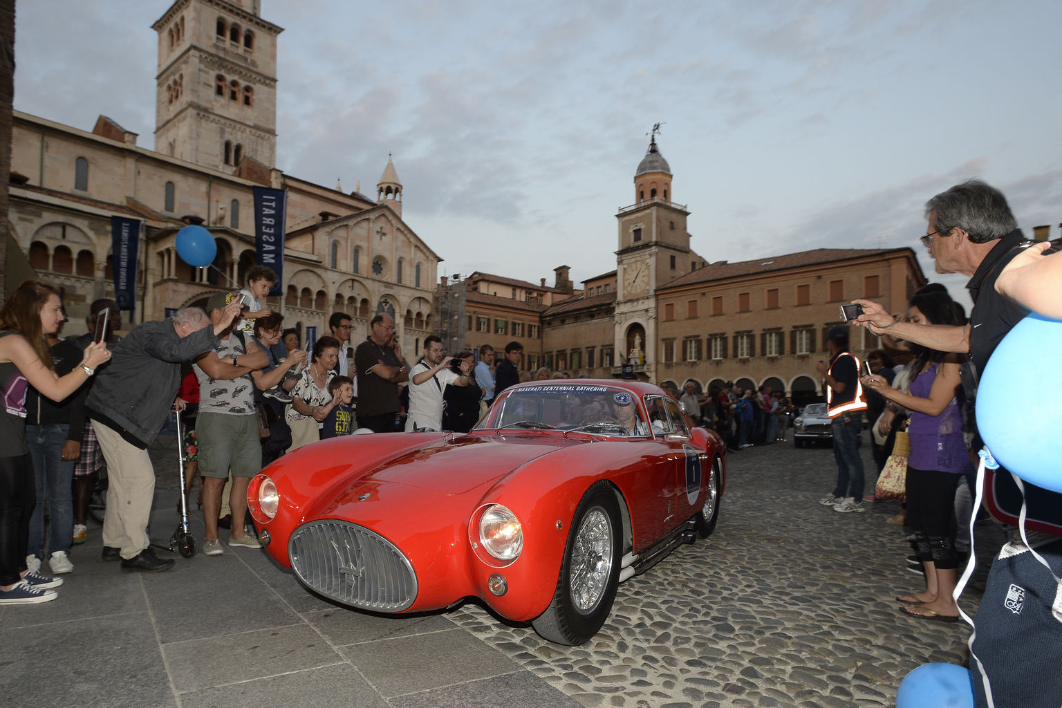
[[399, 614], [480, 598], [581, 644], [619, 583], [715, 530], [724, 450], [657, 386], [530, 382], [468, 434], [303, 447], [254, 478], [247, 501], [269, 553], [335, 602]]

